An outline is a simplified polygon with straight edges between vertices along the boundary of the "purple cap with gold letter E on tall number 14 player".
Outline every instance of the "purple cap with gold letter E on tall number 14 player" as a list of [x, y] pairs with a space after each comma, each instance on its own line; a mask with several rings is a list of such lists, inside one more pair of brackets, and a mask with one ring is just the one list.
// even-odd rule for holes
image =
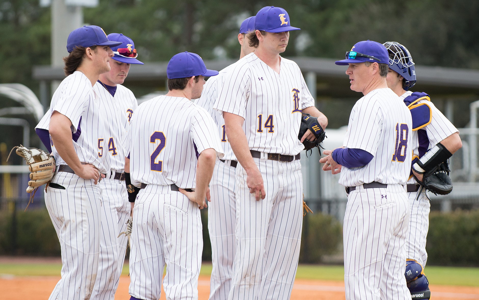
[[256, 14], [254, 29], [274, 33], [300, 30], [297, 27], [291, 26], [289, 15], [285, 9], [274, 6], [263, 7]]

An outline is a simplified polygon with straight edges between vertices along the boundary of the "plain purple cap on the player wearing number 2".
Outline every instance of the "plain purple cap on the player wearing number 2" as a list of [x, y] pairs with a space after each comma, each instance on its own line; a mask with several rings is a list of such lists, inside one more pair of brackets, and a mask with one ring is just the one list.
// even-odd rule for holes
[[209, 77], [218, 74], [218, 71], [206, 69], [203, 59], [198, 54], [186, 51], [173, 56], [166, 67], [168, 79], [200, 75]]

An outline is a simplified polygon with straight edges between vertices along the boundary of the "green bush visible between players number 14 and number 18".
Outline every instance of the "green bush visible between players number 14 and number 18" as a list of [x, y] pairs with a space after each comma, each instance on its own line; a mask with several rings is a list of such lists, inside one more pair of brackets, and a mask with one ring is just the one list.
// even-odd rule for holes
[[299, 262], [320, 263], [323, 255], [338, 252], [341, 241], [342, 226], [335, 217], [320, 212], [312, 215], [308, 213], [303, 218]]

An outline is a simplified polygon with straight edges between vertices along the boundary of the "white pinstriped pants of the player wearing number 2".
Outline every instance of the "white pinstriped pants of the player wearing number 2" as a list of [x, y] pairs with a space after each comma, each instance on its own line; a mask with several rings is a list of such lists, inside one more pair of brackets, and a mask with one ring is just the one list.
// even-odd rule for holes
[[200, 209], [169, 185], [147, 185], [133, 208], [129, 294], [160, 299], [161, 279], [166, 299], [198, 299], [203, 253]]

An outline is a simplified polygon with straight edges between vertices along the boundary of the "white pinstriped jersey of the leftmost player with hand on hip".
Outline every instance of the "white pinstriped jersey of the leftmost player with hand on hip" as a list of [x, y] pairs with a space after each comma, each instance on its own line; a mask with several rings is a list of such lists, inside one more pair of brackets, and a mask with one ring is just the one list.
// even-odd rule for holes
[[[80, 162], [94, 165], [101, 173], [110, 170], [105, 156], [101, 156], [101, 147], [107, 146], [105, 137], [105, 119], [99, 108], [99, 96], [93, 91], [91, 81], [80, 71], [65, 78], [53, 94], [50, 109], [35, 128], [47, 129], [50, 117], [54, 111], [67, 116], [71, 121], [73, 133], [80, 125], [81, 134], [78, 140], [73, 140], [73, 147]], [[80, 122], [81, 119], [81, 122]], [[52, 145], [52, 154], [57, 165], [67, 164], [58, 155], [55, 145]]]

